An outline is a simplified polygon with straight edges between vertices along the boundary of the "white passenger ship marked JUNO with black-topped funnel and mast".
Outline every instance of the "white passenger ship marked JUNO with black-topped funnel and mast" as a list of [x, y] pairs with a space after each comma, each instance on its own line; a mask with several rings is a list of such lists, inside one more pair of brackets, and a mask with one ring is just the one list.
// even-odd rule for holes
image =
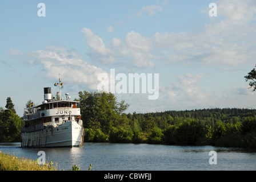
[[61, 97], [63, 83], [59, 78], [59, 100], [51, 96], [51, 88], [44, 88], [41, 105], [25, 108], [21, 128], [22, 147], [83, 146], [83, 123], [78, 101]]

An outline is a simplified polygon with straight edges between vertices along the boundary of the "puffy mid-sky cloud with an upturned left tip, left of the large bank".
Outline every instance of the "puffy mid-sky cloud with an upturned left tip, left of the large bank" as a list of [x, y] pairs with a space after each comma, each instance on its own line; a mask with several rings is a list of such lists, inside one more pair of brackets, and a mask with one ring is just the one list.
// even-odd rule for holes
[[[103, 40], [88, 28], [83, 28], [86, 44], [91, 48], [88, 54], [92, 60], [101, 61], [103, 64], [117, 63], [126, 60], [127, 65], [135, 67], [154, 67], [151, 38], [146, 38], [137, 32], [131, 31], [125, 39], [113, 38], [112, 47], [105, 47]], [[98, 43], [95, 42], [98, 41]]]

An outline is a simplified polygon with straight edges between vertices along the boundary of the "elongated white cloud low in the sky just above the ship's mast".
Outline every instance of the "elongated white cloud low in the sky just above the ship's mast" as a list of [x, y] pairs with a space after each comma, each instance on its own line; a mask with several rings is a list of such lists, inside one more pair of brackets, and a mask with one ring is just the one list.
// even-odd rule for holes
[[47, 50], [26, 53], [13, 52], [14, 54], [18, 53], [18, 55], [15, 55], [19, 59], [33, 61], [33, 66], [41, 68], [39, 74], [42, 77], [56, 79], [58, 74], [61, 73], [65, 77], [66, 84], [85, 84], [90, 89], [97, 89], [97, 76], [99, 73], [106, 73], [101, 68], [97, 68], [80, 59], [74, 50], [68, 50], [63, 47], [51, 46]]

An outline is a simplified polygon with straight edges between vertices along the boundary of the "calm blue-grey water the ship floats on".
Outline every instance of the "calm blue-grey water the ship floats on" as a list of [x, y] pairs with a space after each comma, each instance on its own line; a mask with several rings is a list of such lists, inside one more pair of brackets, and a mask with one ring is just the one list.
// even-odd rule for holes
[[[20, 143], [0, 143], [0, 150], [37, 160], [45, 151], [46, 160], [69, 170], [77, 165], [94, 171], [142, 170], [256, 170], [256, 151], [213, 146], [167, 146], [159, 144], [86, 143], [85, 147], [21, 148]], [[210, 151], [217, 152], [217, 164], [209, 164]], [[55, 165], [54, 165], [55, 166]]]

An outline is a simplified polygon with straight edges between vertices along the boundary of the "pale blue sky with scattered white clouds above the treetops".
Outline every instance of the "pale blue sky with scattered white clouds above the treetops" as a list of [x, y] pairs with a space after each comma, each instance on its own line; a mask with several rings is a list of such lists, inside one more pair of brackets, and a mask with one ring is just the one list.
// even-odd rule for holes
[[[39, 17], [38, 3], [46, 16]], [[210, 17], [210, 3], [217, 16]], [[244, 76], [256, 62], [256, 3], [235, 1], [0, 1], [0, 106], [19, 115], [58, 81], [77, 98], [99, 73], [159, 73], [159, 97], [115, 94], [127, 112], [255, 108]]]

